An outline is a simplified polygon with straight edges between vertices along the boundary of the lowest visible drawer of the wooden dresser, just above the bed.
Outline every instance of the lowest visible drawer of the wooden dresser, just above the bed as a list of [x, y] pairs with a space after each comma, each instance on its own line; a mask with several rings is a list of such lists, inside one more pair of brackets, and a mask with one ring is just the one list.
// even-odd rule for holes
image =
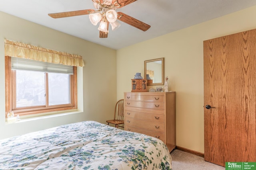
[[160, 139], [161, 141], [164, 142], [164, 133], [160, 133], [160, 132], [156, 132], [156, 131], [149, 131], [149, 130], [146, 130], [146, 129], [140, 129], [140, 128], [132, 127], [132, 126], [129, 126], [129, 125], [127, 125], [124, 130], [131, 131], [131, 132], [142, 133], [142, 134], [145, 134], [145, 135], [148, 135], [148, 136], [151, 136], [151, 137], [158, 138], [158, 139]]

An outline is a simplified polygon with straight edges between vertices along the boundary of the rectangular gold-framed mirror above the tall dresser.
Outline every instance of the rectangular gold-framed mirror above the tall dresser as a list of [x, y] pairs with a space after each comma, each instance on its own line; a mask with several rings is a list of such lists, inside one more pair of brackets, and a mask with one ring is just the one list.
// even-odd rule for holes
[[152, 83], [147, 83], [147, 85], [164, 85], [164, 58], [144, 61], [145, 79], [148, 79], [147, 74], [152, 80]]

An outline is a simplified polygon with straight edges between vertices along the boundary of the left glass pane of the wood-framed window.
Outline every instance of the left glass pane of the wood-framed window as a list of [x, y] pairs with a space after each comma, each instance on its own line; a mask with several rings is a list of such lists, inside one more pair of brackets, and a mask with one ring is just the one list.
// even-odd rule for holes
[[16, 70], [16, 107], [45, 105], [43, 72]]

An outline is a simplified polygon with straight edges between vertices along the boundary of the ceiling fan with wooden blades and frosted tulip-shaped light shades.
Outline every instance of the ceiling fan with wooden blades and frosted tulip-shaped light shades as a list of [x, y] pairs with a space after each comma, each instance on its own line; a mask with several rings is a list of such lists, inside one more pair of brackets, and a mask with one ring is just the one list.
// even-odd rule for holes
[[139, 21], [131, 16], [128, 16], [122, 12], [116, 12], [117, 8], [122, 8], [136, 0], [92, 0], [94, 7], [97, 10], [78, 10], [70, 12], [60, 12], [48, 14], [52, 18], [65, 18], [72, 16], [88, 15], [89, 19], [93, 25], [97, 25], [100, 22], [98, 30], [100, 31], [100, 38], [108, 37], [108, 27], [109, 23], [112, 30], [120, 27], [120, 23], [117, 20], [123, 21], [133, 27], [136, 27], [142, 31], [147, 31], [150, 25]]

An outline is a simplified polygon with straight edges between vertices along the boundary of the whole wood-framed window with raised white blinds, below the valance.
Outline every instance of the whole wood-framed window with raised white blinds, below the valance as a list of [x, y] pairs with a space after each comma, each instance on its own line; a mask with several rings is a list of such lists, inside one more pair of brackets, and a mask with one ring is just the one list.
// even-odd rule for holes
[[76, 66], [5, 57], [6, 115], [77, 108]]

